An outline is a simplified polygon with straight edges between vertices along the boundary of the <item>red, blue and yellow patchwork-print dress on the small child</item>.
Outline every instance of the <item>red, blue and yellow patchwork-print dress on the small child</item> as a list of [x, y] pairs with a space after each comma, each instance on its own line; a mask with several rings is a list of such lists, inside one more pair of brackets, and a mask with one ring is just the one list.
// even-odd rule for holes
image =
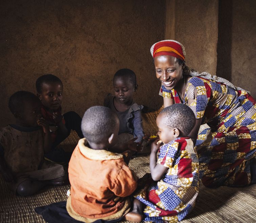
[[183, 137], [164, 144], [157, 164], [168, 168], [163, 178], [145, 180], [144, 188], [134, 195], [146, 204], [144, 221], [181, 221], [193, 209], [198, 194], [198, 159], [192, 140]]

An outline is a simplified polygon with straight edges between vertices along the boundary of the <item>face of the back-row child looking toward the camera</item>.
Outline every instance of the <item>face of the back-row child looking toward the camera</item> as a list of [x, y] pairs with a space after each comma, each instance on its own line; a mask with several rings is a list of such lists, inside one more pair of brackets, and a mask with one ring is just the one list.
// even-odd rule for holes
[[38, 97], [42, 104], [50, 111], [58, 110], [62, 103], [63, 86], [59, 82], [43, 83], [42, 92]]

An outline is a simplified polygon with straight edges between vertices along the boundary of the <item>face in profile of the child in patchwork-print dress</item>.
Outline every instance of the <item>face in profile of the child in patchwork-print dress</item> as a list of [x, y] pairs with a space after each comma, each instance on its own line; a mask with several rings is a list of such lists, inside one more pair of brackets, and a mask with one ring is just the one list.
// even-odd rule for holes
[[158, 127], [158, 136], [163, 143], [168, 143], [176, 138], [174, 128], [170, 128], [166, 125], [166, 114], [161, 113], [156, 118], [156, 124]]

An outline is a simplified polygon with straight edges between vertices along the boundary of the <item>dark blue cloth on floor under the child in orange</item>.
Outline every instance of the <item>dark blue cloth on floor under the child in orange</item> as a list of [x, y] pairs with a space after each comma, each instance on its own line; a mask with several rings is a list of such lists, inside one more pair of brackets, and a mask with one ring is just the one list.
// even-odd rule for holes
[[[61, 201], [41, 207], [36, 207], [35, 212], [42, 215], [43, 219], [48, 223], [82, 223], [82, 221], [73, 219], [68, 214], [66, 204], [66, 201]], [[97, 220], [93, 223], [113, 223], [121, 221], [122, 218], [123, 217], [112, 221]]]

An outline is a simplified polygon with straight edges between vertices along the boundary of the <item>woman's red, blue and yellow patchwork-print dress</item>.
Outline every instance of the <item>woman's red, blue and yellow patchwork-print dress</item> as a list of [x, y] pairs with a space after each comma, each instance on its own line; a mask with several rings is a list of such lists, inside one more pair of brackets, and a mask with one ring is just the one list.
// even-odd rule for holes
[[[191, 77], [187, 84], [184, 104], [194, 99], [189, 107], [202, 124], [210, 128], [197, 136], [196, 152], [199, 159], [199, 178], [207, 187], [243, 186], [250, 184], [250, 159], [256, 155], [256, 105], [244, 90], [202, 77]], [[163, 85], [163, 97], [180, 103], [174, 89]]]

